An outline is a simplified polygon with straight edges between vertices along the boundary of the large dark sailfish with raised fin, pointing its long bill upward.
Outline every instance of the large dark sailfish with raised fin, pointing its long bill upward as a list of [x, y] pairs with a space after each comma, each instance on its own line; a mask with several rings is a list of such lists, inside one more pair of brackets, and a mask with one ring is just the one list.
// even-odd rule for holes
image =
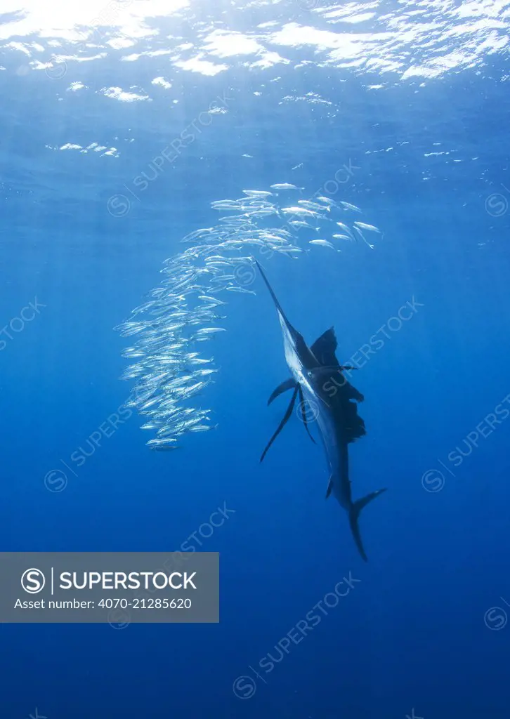
[[[257, 260], [255, 262], [278, 312], [283, 333], [285, 359], [291, 372], [291, 377], [278, 385], [270, 395], [268, 404], [283, 392], [293, 390], [285, 416], [265, 447], [260, 462], [263, 461], [269, 447], [291, 417], [296, 398], [299, 397], [299, 408], [306, 431], [311, 436], [306, 421], [306, 410], [309, 408], [314, 419], [317, 420], [324, 446], [329, 469], [326, 498], [333, 495], [340, 506], [346, 510], [352, 537], [361, 557], [367, 562], [368, 558], [363, 547], [358, 519], [361, 510], [373, 499], [386, 492], [386, 487], [361, 499], [352, 500], [348, 446], [366, 434], [365, 423], [358, 415], [356, 405], [356, 402], [363, 401], [363, 395], [343, 375], [345, 370], [352, 370], [355, 367], [342, 366], [338, 362], [335, 354], [337, 338], [332, 327], [325, 331], [311, 347], [308, 347], [303, 336], [288, 321], [262, 267]], [[311, 439], [313, 441], [313, 437]]]

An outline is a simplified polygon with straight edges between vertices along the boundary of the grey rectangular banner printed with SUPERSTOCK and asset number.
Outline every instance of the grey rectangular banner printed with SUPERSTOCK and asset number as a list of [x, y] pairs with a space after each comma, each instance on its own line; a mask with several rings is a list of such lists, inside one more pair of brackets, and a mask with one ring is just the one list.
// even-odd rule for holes
[[219, 622], [219, 554], [0, 552], [0, 622]]

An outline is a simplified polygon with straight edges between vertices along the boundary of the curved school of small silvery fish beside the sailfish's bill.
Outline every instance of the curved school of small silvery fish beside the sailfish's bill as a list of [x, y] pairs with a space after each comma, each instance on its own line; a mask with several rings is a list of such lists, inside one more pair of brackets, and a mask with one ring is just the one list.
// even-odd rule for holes
[[135, 363], [122, 379], [135, 380], [127, 406], [144, 416], [142, 429], [155, 433], [147, 442], [151, 449], [176, 449], [183, 435], [214, 426], [211, 410], [189, 404], [218, 371], [214, 357], [199, 352], [204, 347], [199, 343], [224, 331], [227, 302], [219, 295], [255, 294], [248, 288], [255, 279], [254, 255], [261, 261], [275, 253], [295, 259], [311, 249], [304, 249], [304, 242], [340, 252], [342, 242], [358, 239], [373, 249], [365, 232], [378, 233], [377, 227], [347, 224], [352, 212], [360, 213], [358, 207], [320, 195], [302, 199], [302, 190], [278, 183], [213, 202], [213, 209], [232, 214], [183, 237], [188, 247], [163, 262], [158, 287], [115, 328], [134, 340], [122, 356]]

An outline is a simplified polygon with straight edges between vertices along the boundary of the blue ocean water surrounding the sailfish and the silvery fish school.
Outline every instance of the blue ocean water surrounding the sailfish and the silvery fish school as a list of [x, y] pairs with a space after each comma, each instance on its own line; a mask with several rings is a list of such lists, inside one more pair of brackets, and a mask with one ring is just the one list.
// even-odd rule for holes
[[[2, 1], [0, 547], [185, 544], [221, 567], [218, 624], [1, 624], [2, 717], [506, 719], [509, 20], [504, 1]], [[264, 262], [307, 342], [334, 326], [359, 367], [352, 492], [388, 487], [360, 518], [367, 564], [296, 414], [259, 464], [288, 374], [260, 278], [208, 343], [216, 429], [166, 453], [137, 413], [104, 429], [130, 391], [114, 326], [212, 202], [274, 183], [381, 229], [340, 253], [301, 232]]]

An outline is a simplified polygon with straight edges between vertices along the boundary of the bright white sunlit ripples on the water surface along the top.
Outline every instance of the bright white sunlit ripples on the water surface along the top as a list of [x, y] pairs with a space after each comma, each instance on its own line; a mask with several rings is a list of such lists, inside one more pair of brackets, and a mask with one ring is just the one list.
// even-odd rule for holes
[[4, 0], [0, 47], [30, 58], [34, 70], [55, 58], [101, 60], [106, 52], [130, 62], [168, 55], [179, 70], [213, 76], [235, 65], [267, 70], [288, 64], [299, 49], [317, 64], [354, 72], [434, 78], [481, 64], [509, 43], [510, 3], [504, 0], [458, 7], [446, 0], [249, 5], [257, 22], [246, 27], [248, 6], [240, 4]]

